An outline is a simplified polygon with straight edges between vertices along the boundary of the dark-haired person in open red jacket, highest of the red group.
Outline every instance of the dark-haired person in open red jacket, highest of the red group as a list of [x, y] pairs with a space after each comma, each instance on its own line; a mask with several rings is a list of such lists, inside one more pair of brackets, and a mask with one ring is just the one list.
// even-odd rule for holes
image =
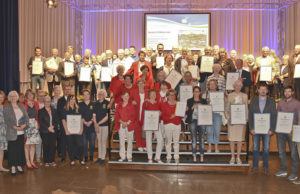
[[139, 76], [142, 75], [141, 67], [147, 65], [149, 68], [147, 77], [149, 77], [149, 80], [153, 81], [151, 63], [145, 60], [146, 53], [144, 51], [140, 51], [138, 56], [139, 56], [139, 60], [132, 63], [130, 69], [127, 71], [126, 74], [133, 74], [133, 83], [135, 84]]

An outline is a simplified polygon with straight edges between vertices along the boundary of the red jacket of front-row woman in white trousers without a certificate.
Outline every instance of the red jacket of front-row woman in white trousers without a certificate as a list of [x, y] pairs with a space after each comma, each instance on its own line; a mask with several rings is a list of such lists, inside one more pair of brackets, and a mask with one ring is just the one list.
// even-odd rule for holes
[[131, 104], [130, 102], [123, 107], [122, 104], [119, 104], [116, 108], [115, 112], [115, 119], [116, 119], [116, 125], [115, 129], [117, 131], [120, 130], [121, 123], [120, 120], [127, 122], [131, 121], [131, 123], [127, 126], [128, 131], [133, 131], [137, 127], [136, 118], [137, 118], [137, 112], [136, 107]]

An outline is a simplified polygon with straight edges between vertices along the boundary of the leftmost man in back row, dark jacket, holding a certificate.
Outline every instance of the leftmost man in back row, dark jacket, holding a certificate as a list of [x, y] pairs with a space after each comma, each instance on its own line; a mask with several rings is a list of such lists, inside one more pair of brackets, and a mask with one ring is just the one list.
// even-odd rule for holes
[[[38, 84], [39, 84], [39, 90], [44, 89], [44, 85], [45, 85], [44, 68], [45, 68], [46, 58], [42, 56], [42, 49], [40, 47], [35, 47], [34, 52], [35, 52], [35, 56], [30, 57], [29, 62], [27, 64], [27, 68], [30, 71], [30, 75], [31, 75], [31, 89], [34, 92], [36, 92]], [[35, 61], [42, 62], [43, 64], [43, 71], [40, 74], [35, 74], [35, 72], [32, 72], [32, 65], [33, 62]]]

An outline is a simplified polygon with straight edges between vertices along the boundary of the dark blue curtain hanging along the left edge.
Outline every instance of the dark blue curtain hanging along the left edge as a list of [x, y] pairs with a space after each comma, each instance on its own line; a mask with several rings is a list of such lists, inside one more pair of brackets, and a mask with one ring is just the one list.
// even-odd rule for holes
[[0, 90], [19, 91], [18, 0], [0, 0]]

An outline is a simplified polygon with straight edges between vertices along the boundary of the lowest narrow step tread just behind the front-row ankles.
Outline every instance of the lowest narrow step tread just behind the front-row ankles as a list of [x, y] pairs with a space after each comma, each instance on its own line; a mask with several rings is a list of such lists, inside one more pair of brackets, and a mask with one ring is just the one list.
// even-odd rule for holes
[[[111, 153], [119, 153], [119, 150], [118, 149], [111, 149]], [[147, 154], [146, 151], [138, 151], [136, 149], [132, 150], [132, 153], [133, 154]], [[153, 150], [153, 154], [155, 154], [155, 150]], [[167, 152], [166, 151], [162, 151], [161, 152], [162, 155], [166, 155]], [[172, 151], [171, 154], [174, 154], [174, 152]], [[237, 153], [235, 153], [237, 154]], [[179, 155], [192, 155], [192, 152], [191, 151], [184, 151], [184, 150], [181, 150], [179, 151]], [[200, 152], [197, 152], [197, 155], [200, 155]], [[230, 156], [231, 155], [231, 152], [230, 151], [220, 151], [219, 153], [216, 153], [216, 152], [204, 152], [204, 155], [205, 156]], [[247, 155], [247, 152], [245, 151], [242, 151], [241, 152], [241, 155], [245, 156]]]

